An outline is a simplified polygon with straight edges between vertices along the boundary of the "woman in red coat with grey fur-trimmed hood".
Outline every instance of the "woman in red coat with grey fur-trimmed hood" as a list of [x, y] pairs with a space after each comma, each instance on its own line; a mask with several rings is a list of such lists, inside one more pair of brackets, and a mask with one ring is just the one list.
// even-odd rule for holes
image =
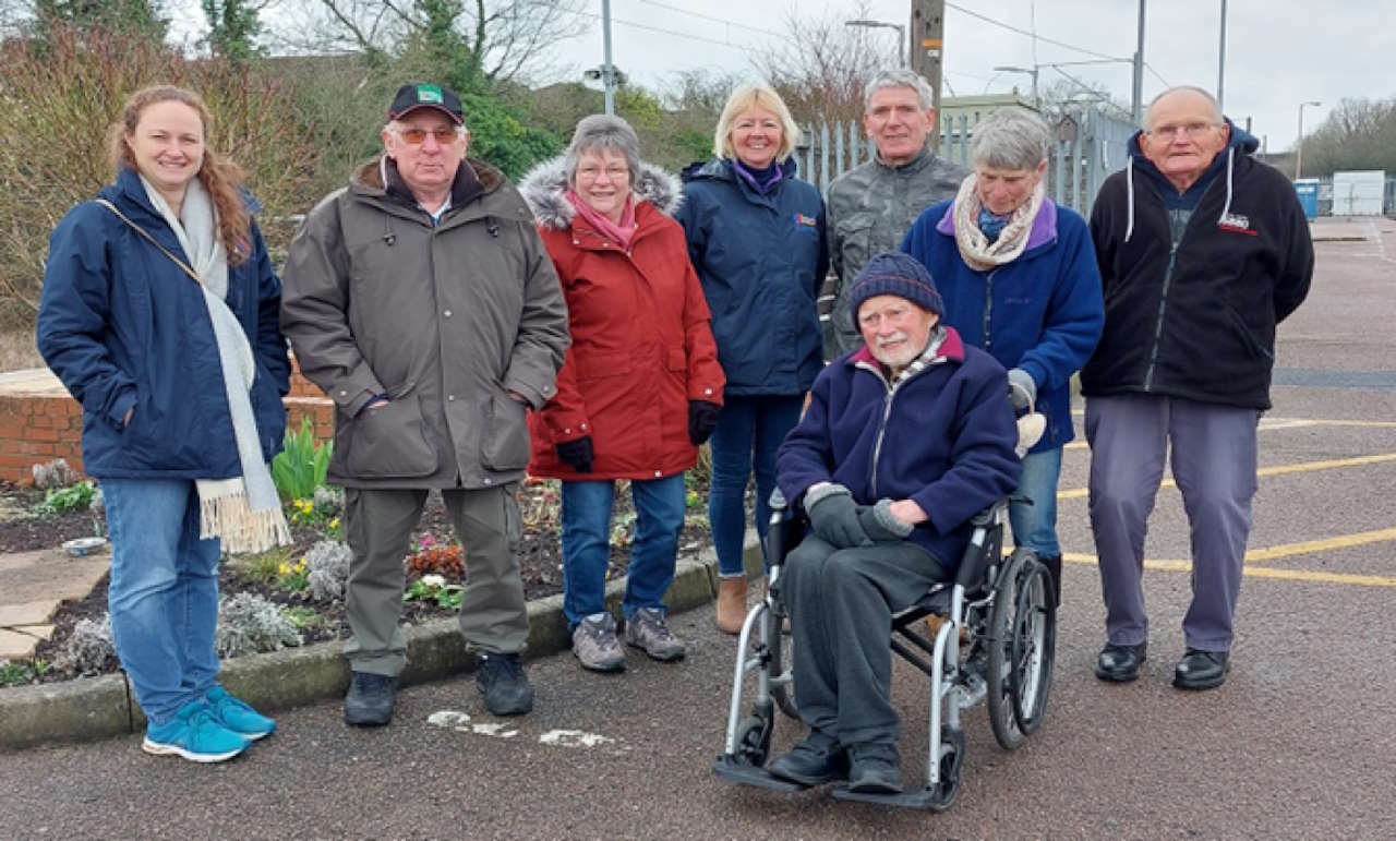
[[616, 479], [635, 502], [625, 641], [655, 659], [684, 645], [664, 624], [684, 525], [684, 471], [718, 422], [723, 374], [708, 305], [670, 215], [678, 180], [639, 161], [625, 120], [591, 116], [522, 184], [567, 298], [572, 345], [557, 397], [529, 418], [529, 474], [563, 481], [563, 610], [582, 666], [625, 668], [606, 612]]

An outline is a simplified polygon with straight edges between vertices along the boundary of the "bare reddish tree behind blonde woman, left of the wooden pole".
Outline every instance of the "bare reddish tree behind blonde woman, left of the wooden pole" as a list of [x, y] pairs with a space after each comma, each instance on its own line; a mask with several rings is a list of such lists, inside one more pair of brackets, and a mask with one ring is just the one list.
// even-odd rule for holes
[[871, 13], [866, 0], [821, 18], [786, 14], [787, 38], [772, 43], [755, 64], [797, 120], [861, 119], [868, 80], [878, 70], [900, 64], [885, 34], [874, 36], [872, 29], [845, 24], [867, 17]]

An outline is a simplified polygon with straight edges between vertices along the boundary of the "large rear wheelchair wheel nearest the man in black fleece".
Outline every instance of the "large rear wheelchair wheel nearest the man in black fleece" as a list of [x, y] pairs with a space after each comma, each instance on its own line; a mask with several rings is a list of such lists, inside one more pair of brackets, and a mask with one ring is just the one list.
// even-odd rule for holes
[[1055, 606], [1046, 567], [1018, 550], [1000, 573], [988, 615], [988, 724], [1004, 750], [1023, 743], [1037, 725], [1051, 685]]

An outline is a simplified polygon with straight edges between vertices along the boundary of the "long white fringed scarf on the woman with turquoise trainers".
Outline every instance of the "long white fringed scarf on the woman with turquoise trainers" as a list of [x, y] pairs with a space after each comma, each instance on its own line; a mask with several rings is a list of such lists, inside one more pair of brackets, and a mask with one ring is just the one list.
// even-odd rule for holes
[[144, 176], [141, 183], [151, 204], [174, 231], [201, 281], [243, 468], [242, 476], [194, 482], [198, 489], [198, 536], [204, 541], [221, 538], [225, 552], [265, 552], [272, 546], [285, 546], [290, 543], [290, 529], [281, 510], [276, 483], [262, 461], [257, 419], [248, 397], [257, 362], [237, 316], [223, 300], [228, 296], [228, 253], [218, 236], [218, 210], [198, 179], [188, 183], [179, 218]]

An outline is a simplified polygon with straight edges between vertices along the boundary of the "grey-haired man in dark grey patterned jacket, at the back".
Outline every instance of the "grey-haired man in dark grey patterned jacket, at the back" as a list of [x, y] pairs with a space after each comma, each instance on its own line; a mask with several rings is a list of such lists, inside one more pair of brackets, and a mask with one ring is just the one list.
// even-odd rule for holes
[[847, 289], [872, 254], [896, 251], [923, 210], [953, 198], [969, 170], [926, 145], [935, 109], [931, 88], [910, 70], [886, 70], [868, 82], [863, 129], [877, 158], [843, 173], [825, 197], [833, 313], [825, 323], [824, 358], [863, 345], [849, 317]]

